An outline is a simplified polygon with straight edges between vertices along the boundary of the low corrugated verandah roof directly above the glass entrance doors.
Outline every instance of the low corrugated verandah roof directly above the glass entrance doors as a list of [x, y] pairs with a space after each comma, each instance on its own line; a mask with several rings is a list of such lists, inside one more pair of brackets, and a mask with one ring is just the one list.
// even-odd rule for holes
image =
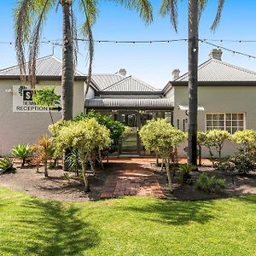
[[116, 99], [92, 98], [85, 100], [85, 108], [173, 108], [171, 98], [158, 99]]

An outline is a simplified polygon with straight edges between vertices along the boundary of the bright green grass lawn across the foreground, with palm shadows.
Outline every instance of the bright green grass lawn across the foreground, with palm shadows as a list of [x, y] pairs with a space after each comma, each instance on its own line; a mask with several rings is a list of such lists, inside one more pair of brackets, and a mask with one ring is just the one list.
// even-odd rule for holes
[[0, 255], [256, 255], [256, 195], [61, 203], [0, 188]]

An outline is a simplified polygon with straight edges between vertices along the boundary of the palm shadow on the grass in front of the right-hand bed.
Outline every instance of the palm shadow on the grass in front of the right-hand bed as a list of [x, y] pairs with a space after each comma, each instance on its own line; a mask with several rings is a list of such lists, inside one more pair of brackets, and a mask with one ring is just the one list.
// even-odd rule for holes
[[205, 224], [215, 218], [213, 201], [156, 201], [146, 206], [125, 207], [127, 211], [140, 212], [145, 220], [160, 224], [183, 225], [190, 222]]

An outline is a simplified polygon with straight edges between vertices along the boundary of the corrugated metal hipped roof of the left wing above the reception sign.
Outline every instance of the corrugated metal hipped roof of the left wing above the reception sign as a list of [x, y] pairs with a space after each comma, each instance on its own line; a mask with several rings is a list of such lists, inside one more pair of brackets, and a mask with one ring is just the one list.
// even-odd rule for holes
[[[36, 75], [37, 76], [61, 76], [62, 61], [56, 58], [54, 55], [38, 58], [36, 62]], [[28, 68], [26, 63], [26, 75], [28, 74]], [[0, 70], [2, 76], [20, 76], [20, 68], [18, 66], [7, 67]], [[75, 71], [75, 76], [84, 76], [83, 73]]]

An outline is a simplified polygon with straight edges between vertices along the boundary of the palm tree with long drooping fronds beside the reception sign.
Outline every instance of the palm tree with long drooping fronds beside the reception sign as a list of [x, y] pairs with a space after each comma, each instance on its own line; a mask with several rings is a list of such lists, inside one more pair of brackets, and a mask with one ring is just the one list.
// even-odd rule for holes
[[[110, 0], [111, 1], [111, 0]], [[128, 9], [135, 9], [146, 24], [153, 20], [152, 6], [148, 0], [113, 0]], [[77, 61], [77, 26], [73, 14], [74, 4], [84, 15], [82, 35], [88, 39], [89, 72], [87, 84], [90, 84], [94, 44], [91, 27], [98, 15], [96, 0], [21, 0], [15, 8], [15, 48], [20, 66], [20, 77], [26, 79], [25, 45], [29, 43], [28, 79], [32, 88], [36, 84], [35, 67], [42, 29], [51, 9], [62, 9], [62, 75], [61, 100], [62, 119], [73, 118], [73, 74]]]

